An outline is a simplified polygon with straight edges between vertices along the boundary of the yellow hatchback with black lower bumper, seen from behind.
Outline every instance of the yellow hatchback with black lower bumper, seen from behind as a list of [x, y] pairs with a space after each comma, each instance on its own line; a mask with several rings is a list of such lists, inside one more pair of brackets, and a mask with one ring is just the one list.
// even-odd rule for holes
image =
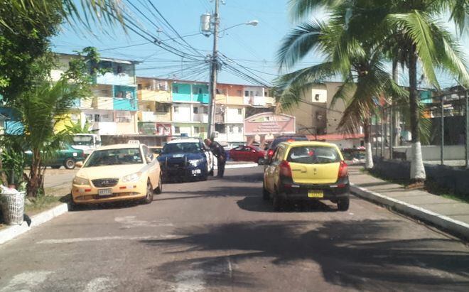
[[287, 200], [330, 200], [349, 207], [347, 164], [338, 146], [317, 141], [281, 143], [264, 170], [264, 200], [280, 210]]

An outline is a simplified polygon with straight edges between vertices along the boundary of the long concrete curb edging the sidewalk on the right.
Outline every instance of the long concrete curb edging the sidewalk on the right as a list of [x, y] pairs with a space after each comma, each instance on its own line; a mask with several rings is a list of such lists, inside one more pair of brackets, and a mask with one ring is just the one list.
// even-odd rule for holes
[[391, 207], [393, 210], [397, 210], [404, 215], [409, 215], [423, 222], [431, 223], [448, 233], [462, 239], [469, 240], [469, 225], [465, 222], [451, 219], [450, 217], [440, 215], [416, 205], [411, 205], [401, 200], [390, 198], [386, 195], [374, 193], [372, 190], [361, 188], [353, 183], [350, 183], [350, 191], [357, 197], [365, 198], [366, 200], [376, 202], [380, 205]]

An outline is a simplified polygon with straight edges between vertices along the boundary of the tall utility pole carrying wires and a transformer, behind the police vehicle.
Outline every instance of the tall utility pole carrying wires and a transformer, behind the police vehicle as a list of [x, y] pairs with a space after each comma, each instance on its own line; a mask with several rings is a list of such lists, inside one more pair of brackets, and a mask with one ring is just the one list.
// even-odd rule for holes
[[217, 70], [218, 70], [218, 26], [220, 17], [218, 16], [219, 0], [215, 0], [215, 13], [213, 13], [213, 51], [210, 58], [210, 107], [208, 108], [208, 132], [209, 139], [215, 136], [215, 99], [217, 97]]

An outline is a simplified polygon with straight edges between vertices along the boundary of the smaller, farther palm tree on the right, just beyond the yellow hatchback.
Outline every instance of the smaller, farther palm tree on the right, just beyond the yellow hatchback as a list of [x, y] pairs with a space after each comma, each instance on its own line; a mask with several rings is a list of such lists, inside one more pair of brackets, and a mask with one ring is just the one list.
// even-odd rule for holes
[[355, 29], [347, 23], [348, 9], [347, 5], [335, 7], [328, 23], [301, 23], [284, 38], [278, 53], [281, 67], [292, 67], [313, 50], [325, 55], [325, 62], [280, 77], [277, 85], [284, 88], [284, 93], [279, 102], [291, 107], [300, 102], [301, 89], [325, 77], [341, 75], [344, 83], [333, 97], [333, 104], [338, 99], [347, 100], [347, 108], [338, 129], [356, 132], [363, 126], [367, 151], [365, 168], [372, 168], [370, 117], [376, 99], [383, 92], [397, 97], [403, 97], [406, 92], [385, 71], [381, 48], [348, 32]]

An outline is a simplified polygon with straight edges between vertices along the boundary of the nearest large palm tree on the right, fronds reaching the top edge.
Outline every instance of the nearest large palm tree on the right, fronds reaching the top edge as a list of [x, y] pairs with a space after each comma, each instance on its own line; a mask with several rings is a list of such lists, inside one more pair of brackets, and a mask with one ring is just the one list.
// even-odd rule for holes
[[[411, 180], [417, 182], [426, 178], [421, 155], [419, 131], [419, 94], [417, 92], [417, 64], [426, 80], [439, 88], [436, 68], [446, 70], [458, 77], [463, 85], [469, 85], [469, 75], [465, 67], [460, 47], [443, 24], [438, 21], [449, 11], [462, 32], [469, 16], [468, 0], [296, 0], [291, 1], [293, 14], [297, 18], [307, 16], [318, 7], [337, 9], [347, 6], [346, 18], [349, 23], [362, 27], [362, 31], [351, 31], [381, 46], [382, 50], [401, 53], [401, 65], [406, 65], [409, 74], [409, 105], [412, 134]], [[350, 25], [350, 24], [349, 24]], [[366, 33], [365, 33], [366, 34]], [[399, 40], [398, 42], [396, 41]]]

